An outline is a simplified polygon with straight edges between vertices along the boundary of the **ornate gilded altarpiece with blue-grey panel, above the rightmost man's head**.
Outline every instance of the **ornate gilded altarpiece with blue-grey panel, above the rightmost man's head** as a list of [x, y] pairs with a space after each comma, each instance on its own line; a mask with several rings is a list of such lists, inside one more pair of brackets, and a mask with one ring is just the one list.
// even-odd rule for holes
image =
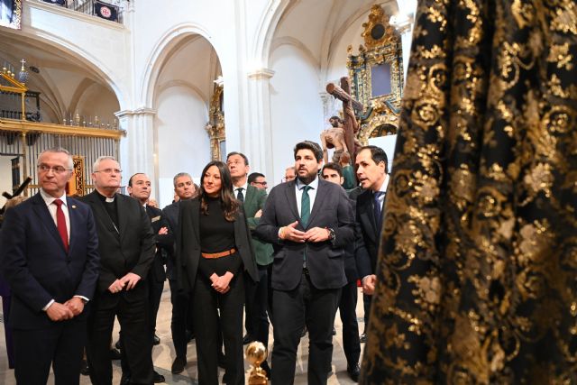
[[347, 68], [353, 98], [364, 105], [357, 116], [357, 139], [366, 144], [370, 137], [397, 133], [404, 79], [401, 38], [389, 24], [389, 15], [373, 5], [362, 27], [364, 44], [357, 55], [349, 46]]

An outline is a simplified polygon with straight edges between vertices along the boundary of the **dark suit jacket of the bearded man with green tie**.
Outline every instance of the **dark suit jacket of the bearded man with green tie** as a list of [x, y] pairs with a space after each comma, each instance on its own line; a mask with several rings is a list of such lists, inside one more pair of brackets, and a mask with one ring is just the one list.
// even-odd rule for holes
[[297, 228], [307, 231], [312, 227], [334, 229], [334, 243], [294, 243], [279, 239], [279, 228], [300, 221], [297, 206], [295, 180], [272, 188], [262, 210], [261, 222], [255, 234], [263, 241], [272, 243], [272, 288], [295, 289], [303, 271], [303, 253], [307, 250], [307, 269], [316, 289], [338, 289], [346, 284], [343, 265], [343, 247], [354, 240], [353, 207], [343, 188], [318, 180], [315, 204], [307, 227], [300, 223]]

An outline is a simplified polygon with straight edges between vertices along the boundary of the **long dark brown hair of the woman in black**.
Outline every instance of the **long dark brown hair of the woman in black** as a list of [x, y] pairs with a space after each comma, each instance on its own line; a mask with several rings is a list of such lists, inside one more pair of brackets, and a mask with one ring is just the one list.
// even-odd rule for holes
[[206, 203], [206, 191], [205, 191], [205, 174], [206, 170], [215, 166], [220, 172], [220, 191], [219, 199], [220, 206], [223, 208], [224, 219], [229, 222], [234, 222], [234, 215], [238, 212], [241, 207], [241, 202], [239, 202], [233, 195], [233, 179], [231, 178], [231, 173], [228, 170], [226, 164], [220, 160], [213, 160], [205, 166], [202, 170], [202, 175], [200, 177], [200, 188], [198, 197], [200, 198], [200, 212], [204, 215], [208, 215], [208, 204]]

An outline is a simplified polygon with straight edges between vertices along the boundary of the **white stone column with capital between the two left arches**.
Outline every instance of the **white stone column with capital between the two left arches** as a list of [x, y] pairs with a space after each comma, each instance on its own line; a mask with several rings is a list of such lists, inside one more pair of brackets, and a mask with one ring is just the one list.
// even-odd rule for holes
[[[128, 185], [128, 179], [136, 172], [143, 172], [151, 179], [154, 195], [158, 195], [158, 159], [154, 138], [154, 116], [156, 110], [140, 107], [135, 110], [123, 110], [115, 113], [120, 128], [126, 137], [120, 142], [119, 161], [123, 169], [122, 185]], [[158, 198], [158, 197], [157, 197]]]

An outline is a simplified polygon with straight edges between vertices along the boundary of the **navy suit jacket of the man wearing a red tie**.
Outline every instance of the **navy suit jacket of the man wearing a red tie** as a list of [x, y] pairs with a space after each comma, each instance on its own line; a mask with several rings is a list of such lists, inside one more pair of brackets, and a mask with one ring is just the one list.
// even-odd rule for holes
[[[98, 277], [98, 238], [90, 207], [67, 197], [69, 252], [40, 193], [9, 209], [0, 235], [0, 266], [12, 289], [10, 325], [42, 329], [55, 324], [42, 311], [50, 299], [92, 299]], [[82, 320], [86, 311], [75, 320]]]

